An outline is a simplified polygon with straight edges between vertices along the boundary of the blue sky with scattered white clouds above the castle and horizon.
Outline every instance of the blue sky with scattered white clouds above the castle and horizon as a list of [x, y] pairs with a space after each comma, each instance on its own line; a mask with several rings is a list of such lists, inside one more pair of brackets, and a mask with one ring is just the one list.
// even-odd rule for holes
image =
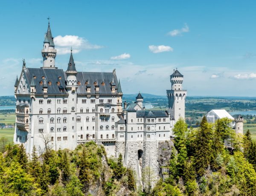
[[256, 2], [236, 0], [3, 1], [0, 95], [22, 58], [41, 67], [47, 17], [66, 69], [112, 72], [124, 93], [165, 95], [176, 67], [188, 95], [256, 96]]

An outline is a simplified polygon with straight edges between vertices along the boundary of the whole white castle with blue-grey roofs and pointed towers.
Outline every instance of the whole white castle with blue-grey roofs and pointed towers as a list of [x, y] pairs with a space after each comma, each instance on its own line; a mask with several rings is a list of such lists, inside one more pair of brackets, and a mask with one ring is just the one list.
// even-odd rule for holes
[[145, 110], [139, 93], [134, 103], [122, 104], [122, 89], [113, 72], [78, 72], [71, 50], [67, 69], [55, 66], [54, 40], [50, 25], [44, 39], [43, 66], [29, 68], [23, 61], [15, 82], [16, 125], [14, 142], [23, 143], [27, 153], [73, 150], [78, 144], [95, 141], [105, 146], [108, 156], [122, 154], [126, 166], [137, 171], [151, 167], [157, 173], [160, 141], [172, 138], [172, 127], [185, 118], [186, 90], [183, 75], [176, 69], [170, 76], [166, 111]]

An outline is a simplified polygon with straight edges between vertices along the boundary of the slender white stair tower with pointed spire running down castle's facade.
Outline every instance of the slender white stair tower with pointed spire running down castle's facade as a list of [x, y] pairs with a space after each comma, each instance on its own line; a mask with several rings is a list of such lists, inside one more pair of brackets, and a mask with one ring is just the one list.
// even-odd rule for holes
[[[71, 113], [68, 115], [68, 137], [72, 138], [73, 142], [77, 142], [77, 134], [76, 134], [76, 102], [77, 102], [77, 82], [76, 82], [76, 65], [74, 63], [73, 59], [73, 54], [72, 54], [72, 49], [71, 49], [71, 54], [70, 54], [70, 61], [67, 66], [67, 81], [66, 81], [66, 90], [68, 92], [68, 108], [67, 111], [68, 113]], [[74, 143], [69, 142], [69, 149], [74, 149], [76, 145], [73, 145]]]

